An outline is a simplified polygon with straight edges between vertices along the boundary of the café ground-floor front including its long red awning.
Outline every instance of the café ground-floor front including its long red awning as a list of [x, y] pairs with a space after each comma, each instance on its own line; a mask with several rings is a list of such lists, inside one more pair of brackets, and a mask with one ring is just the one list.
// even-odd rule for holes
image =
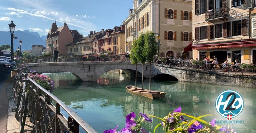
[[213, 59], [215, 55], [219, 63], [223, 63], [227, 59], [230, 63], [234, 63], [235, 60], [238, 60], [239, 63], [256, 63], [256, 40], [193, 45], [191, 48], [193, 49], [193, 58], [198, 58], [200, 61], [204, 60], [206, 56]]

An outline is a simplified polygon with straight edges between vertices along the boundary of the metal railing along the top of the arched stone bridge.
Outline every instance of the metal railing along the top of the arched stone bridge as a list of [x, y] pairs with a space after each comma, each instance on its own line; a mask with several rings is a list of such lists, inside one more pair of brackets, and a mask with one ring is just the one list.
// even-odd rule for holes
[[[27, 63], [47, 63], [54, 62], [54, 55], [23, 55], [20, 57], [22, 64]], [[102, 62], [102, 61], [117, 61], [117, 62], [127, 62], [130, 61], [129, 55], [66, 55], [59, 54], [57, 57], [58, 62]]]

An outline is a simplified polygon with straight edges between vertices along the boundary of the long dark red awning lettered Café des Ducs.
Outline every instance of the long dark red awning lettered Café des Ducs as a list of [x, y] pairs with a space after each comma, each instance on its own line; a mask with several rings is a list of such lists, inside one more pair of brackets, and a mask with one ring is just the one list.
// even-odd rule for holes
[[240, 48], [256, 46], [256, 41], [238, 41], [229, 43], [193, 45], [192, 49], [218, 49], [218, 48]]

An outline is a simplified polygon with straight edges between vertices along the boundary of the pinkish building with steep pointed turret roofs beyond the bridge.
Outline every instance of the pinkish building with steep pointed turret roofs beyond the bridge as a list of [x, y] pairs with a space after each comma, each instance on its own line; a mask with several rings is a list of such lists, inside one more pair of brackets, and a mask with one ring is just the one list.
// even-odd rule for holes
[[66, 45], [79, 41], [82, 37], [76, 30], [70, 30], [66, 23], [58, 28], [56, 22], [52, 22], [46, 39], [46, 52], [52, 53], [57, 48], [60, 54], [67, 54]]

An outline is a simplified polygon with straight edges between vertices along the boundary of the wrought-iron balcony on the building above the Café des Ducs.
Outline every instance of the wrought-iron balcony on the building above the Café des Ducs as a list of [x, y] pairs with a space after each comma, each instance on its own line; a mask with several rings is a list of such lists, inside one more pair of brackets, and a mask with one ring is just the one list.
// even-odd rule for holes
[[217, 9], [208, 10], [205, 12], [205, 21], [213, 21], [217, 19], [228, 18], [229, 8], [221, 7]]

